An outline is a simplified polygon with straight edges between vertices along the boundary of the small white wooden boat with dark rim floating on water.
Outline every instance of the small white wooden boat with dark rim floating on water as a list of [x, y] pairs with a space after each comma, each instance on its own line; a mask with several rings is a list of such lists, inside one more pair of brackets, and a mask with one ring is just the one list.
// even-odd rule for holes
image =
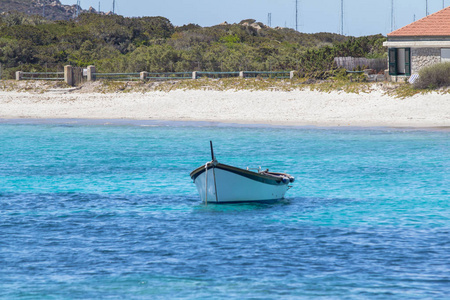
[[191, 172], [200, 198], [205, 203], [267, 201], [284, 198], [294, 182], [285, 173], [258, 170], [253, 172], [219, 163], [211, 142], [212, 161]]

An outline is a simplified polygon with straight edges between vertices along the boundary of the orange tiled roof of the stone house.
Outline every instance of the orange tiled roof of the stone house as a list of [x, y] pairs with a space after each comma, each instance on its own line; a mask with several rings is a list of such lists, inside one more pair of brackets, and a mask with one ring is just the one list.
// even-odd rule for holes
[[450, 36], [450, 6], [388, 34], [397, 36]]

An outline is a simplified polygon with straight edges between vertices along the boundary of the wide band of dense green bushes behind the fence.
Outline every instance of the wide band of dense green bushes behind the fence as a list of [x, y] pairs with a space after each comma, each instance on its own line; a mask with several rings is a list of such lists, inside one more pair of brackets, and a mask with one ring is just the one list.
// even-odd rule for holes
[[382, 35], [348, 37], [239, 24], [175, 27], [163, 17], [126, 18], [83, 13], [50, 21], [20, 13], [0, 17], [2, 78], [14, 72], [60, 71], [66, 64], [97, 71], [298, 71], [300, 78], [339, 74], [334, 57], [384, 57]]

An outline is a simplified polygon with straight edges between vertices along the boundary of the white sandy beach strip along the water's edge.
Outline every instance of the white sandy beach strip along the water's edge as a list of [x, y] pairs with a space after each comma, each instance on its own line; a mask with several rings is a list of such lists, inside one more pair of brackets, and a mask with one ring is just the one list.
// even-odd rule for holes
[[399, 99], [381, 91], [27, 93], [0, 91], [0, 118], [213, 121], [313, 126], [448, 127], [450, 95]]

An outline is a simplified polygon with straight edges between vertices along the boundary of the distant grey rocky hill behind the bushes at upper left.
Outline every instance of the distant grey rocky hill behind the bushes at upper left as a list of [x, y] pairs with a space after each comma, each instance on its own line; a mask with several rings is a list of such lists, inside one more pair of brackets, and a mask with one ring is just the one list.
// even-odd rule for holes
[[[0, 13], [19, 12], [44, 16], [48, 20], [70, 20], [76, 15], [76, 5], [63, 5], [59, 0], [0, 0]], [[79, 13], [88, 12], [80, 8]], [[90, 8], [89, 12], [96, 12]]]

